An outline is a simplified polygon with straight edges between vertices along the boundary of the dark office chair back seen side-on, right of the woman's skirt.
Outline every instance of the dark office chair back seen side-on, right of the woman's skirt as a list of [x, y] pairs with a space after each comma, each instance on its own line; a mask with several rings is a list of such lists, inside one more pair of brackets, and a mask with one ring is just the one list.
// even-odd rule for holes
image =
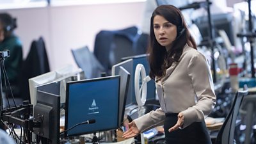
[[238, 90], [232, 102], [230, 111], [221, 126], [215, 144], [234, 144], [234, 132], [236, 128], [237, 115], [243, 101], [244, 95], [248, 94], [248, 88], [244, 85], [243, 90]]

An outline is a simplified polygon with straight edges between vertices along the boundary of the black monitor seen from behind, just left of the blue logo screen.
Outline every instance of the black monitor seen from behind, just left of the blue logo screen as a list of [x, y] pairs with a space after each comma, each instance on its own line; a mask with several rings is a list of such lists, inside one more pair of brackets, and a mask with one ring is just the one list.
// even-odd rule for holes
[[33, 128], [34, 133], [40, 136], [42, 143], [60, 143], [60, 95], [39, 90], [36, 95], [33, 115], [40, 127]]

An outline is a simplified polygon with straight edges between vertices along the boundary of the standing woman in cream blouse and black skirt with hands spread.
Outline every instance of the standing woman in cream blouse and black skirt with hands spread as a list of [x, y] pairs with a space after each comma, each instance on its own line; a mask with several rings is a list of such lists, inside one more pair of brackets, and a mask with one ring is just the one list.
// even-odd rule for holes
[[216, 103], [211, 70], [175, 6], [154, 10], [148, 51], [161, 108], [133, 120], [123, 137], [164, 125], [166, 143], [211, 143], [204, 122]]

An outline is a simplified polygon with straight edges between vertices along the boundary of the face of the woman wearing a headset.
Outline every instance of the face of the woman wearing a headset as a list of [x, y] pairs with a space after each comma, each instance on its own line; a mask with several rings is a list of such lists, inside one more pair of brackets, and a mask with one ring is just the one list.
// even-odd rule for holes
[[172, 47], [172, 42], [177, 36], [177, 26], [168, 22], [161, 15], [156, 15], [154, 17], [154, 34], [156, 36], [157, 42], [169, 51]]

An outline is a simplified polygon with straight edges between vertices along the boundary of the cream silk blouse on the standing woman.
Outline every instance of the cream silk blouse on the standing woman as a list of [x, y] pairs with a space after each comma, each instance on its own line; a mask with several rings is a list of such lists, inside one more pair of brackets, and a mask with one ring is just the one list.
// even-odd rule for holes
[[183, 113], [181, 129], [193, 122], [204, 121], [216, 104], [211, 68], [205, 56], [186, 45], [180, 61], [156, 77], [161, 108], [134, 120], [141, 132], [163, 125], [165, 113]]

